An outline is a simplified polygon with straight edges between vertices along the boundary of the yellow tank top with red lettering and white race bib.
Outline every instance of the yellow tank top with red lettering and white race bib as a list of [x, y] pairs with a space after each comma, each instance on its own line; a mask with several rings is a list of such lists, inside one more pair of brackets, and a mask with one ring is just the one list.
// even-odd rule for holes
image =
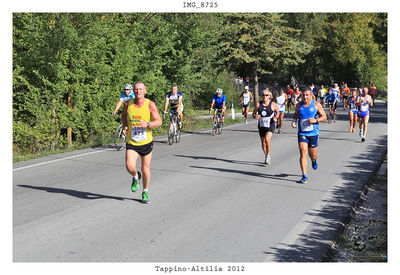
[[145, 99], [142, 107], [135, 107], [134, 100], [129, 100], [128, 105], [128, 134], [126, 142], [134, 146], [146, 145], [153, 141], [150, 128], [140, 126], [140, 120], [150, 122], [150, 100]]

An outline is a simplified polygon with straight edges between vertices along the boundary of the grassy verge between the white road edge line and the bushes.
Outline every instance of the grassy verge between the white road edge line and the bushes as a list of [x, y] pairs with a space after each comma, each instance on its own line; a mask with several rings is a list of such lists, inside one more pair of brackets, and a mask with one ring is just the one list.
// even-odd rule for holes
[[[204, 128], [210, 128], [212, 127], [212, 121], [211, 118], [209, 119], [197, 119], [196, 117], [198, 116], [205, 116], [209, 115], [208, 110], [196, 110], [196, 111], [191, 111], [190, 114], [185, 115], [183, 117], [183, 131], [194, 131], [194, 130], [199, 130], [199, 129], [204, 129]], [[242, 122], [243, 118], [242, 116], [236, 116], [235, 120], [232, 119], [231, 114], [229, 111], [226, 112], [226, 117], [225, 117], [225, 125], [233, 124], [233, 123], [239, 123]], [[162, 136], [165, 135], [167, 132], [168, 128], [168, 118], [163, 119], [163, 125], [159, 128], [153, 129], [153, 136]], [[36, 154], [17, 154], [13, 153], [13, 163], [15, 162], [20, 162], [20, 161], [26, 161], [30, 159], [36, 159], [36, 158], [41, 158], [45, 156], [50, 156], [50, 155], [56, 155], [60, 153], [66, 153], [66, 152], [73, 152], [76, 150], [82, 150], [82, 149], [87, 149], [87, 148], [93, 148], [97, 146], [105, 146], [109, 144], [114, 144], [114, 133], [110, 133], [109, 136], [105, 137], [97, 137], [95, 138], [94, 142], [88, 143], [88, 144], [80, 144], [80, 145], [72, 145], [70, 148], [65, 148], [65, 149], [60, 149], [60, 150], [55, 150], [55, 151], [42, 151]]]

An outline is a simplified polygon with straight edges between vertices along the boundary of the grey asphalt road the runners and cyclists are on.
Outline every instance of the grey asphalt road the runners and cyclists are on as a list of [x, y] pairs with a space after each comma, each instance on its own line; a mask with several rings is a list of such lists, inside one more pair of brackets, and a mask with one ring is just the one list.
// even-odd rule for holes
[[347, 112], [320, 125], [319, 168], [301, 177], [286, 115], [263, 164], [256, 121], [221, 136], [155, 141], [151, 204], [130, 191], [124, 152], [93, 148], [14, 164], [15, 262], [320, 261], [352, 200], [387, 150], [387, 108], [376, 102], [367, 141]]

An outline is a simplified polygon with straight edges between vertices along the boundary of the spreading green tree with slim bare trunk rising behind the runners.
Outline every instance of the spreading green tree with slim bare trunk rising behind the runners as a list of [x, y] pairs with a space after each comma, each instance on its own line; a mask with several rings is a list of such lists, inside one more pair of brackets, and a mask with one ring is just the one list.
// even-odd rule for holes
[[258, 101], [259, 74], [272, 74], [281, 66], [298, 65], [310, 50], [300, 32], [287, 27], [281, 14], [227, 14], [222, 35], [226, 65], [237, 70], [245, 65], [254, 81]]

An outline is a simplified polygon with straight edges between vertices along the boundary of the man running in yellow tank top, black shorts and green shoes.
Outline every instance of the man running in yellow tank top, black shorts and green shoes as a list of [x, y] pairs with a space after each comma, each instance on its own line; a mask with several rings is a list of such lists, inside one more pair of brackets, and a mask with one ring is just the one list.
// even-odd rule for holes
[[[139, 189], [139, 181], [143, 173], [142, 201], [150, 203], [150, 163], [153, 151], [152, 128], [160, 127], [162, 120], [154, 102], [145, 98], [146, 86], [138, 82], [134, 86], [135, 99], [125, 102], [122, 112], [123, 134], [126, 140], [126, 170], [133, 176], [131, 190]], [[151, 121], [151, 117], [153, 121]], [[142, 159], [142, 173], [136, 169], [138, 157]]]

